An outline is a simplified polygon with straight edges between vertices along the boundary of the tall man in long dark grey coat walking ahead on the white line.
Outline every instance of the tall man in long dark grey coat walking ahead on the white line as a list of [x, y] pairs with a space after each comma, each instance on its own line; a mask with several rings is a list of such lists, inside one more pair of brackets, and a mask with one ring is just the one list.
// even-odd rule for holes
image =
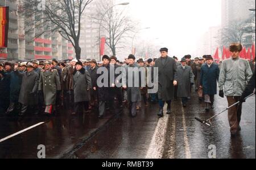
[[163, 117], [164, 103], [167, 102], [167, 114], [171, 114], [171, 101], [174, 99], [174, 86], [177, 85], [177, 65], [174, 59], [168, 56], [168, 49], [161, 48], [161, 57], [155, 61], [158, 67], [158, 98], [159, 117]]

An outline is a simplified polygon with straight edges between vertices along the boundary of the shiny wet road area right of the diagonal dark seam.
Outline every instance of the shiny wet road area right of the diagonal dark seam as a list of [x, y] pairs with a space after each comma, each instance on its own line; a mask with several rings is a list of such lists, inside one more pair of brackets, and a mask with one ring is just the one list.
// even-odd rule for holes
[[208, 147], [213, 145], [217, 159], [255, 159], [255, 96], [243, 104], [242, 131], [237, 138], [230, 137], [227, 112], [214, 119], [212, 127], [195, 121], [195, 117], [212, 117], [227, 105], [226, 99], [216, 96], [215, 109], [205, 113], [204, 103], [193, 93], [186, 108], [181, 101], [172, 102], [172, 114], [164, 118], [156, 117], [158, 105], [138, 111], [136, 118], [125, 111], [75, 152], [75, 157], [208, 159], [213, 149]]

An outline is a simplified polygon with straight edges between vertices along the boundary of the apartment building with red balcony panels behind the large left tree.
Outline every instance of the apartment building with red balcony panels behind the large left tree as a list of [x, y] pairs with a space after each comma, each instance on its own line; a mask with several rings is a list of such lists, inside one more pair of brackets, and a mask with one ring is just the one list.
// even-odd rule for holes
[[0, 57], [8, 60], [73, 59], [75, 50], [72, 44], [59, 33], [42, 34], [44, 26], [35, 27], [34, 22], [27, 22], [34, 16], [26, 16], [26, 11], [21, 9], [23, 5], [22, 0], [0, 0], [0, 6], [9, 6], [10, 9], [8, 45], [0, 48]]

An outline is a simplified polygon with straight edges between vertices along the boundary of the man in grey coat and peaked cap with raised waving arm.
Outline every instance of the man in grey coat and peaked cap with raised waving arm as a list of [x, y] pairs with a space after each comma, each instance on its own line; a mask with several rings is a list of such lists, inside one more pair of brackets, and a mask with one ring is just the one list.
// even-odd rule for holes
[[34, 71], [32, 63], [27, 63], [26, 72], [19, 72], [15, 68], [15, 74], [22, 77], [22, 85], [19, 93], [19, 103], [22, 104], [19, 116], [26, 114], [28, 107], [34, 111], [34, 114], [38, 114], [38, 84], [39, 74]]

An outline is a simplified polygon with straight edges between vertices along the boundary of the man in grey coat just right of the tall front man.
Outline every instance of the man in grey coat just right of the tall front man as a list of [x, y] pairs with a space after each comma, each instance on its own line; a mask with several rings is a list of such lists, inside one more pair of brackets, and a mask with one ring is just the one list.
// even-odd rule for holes
[[192, 68], [187, 65], [184, 58], [181, 59], [181, 65], [177, 67], [177, 97], [181, 97], [183, 107], [187, 106], [187, 99], [191, 95], [190, 87], [194, 84], [194, 77]]

